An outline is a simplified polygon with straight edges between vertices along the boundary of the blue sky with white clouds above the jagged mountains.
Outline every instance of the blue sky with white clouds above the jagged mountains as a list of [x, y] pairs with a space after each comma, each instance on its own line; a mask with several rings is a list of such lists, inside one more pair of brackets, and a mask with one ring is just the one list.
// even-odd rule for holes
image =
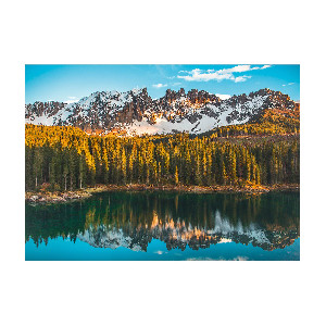
[[197, 88], [211, 93], [249, 93], [261, 88], [279, 90], [300, 100], [300, 65], [26, 65], [25, 102], [77, 101], [98, 90], [126, 91], [147, 87], [152, 98], [167, 88]]

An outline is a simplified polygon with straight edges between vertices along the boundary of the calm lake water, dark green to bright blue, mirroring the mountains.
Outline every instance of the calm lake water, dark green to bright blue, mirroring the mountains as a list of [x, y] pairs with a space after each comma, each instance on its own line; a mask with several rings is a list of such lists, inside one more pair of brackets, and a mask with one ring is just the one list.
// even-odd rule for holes
[[26, 204], [25, 259], [300, 260], [300, 193], [103, 192]]

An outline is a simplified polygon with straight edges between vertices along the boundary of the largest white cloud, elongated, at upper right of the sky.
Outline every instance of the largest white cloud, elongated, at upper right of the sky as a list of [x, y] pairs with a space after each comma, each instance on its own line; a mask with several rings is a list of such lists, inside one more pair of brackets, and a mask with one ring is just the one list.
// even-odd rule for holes
[[250, 71], [258, 71], [258, 70], [265, 70], [271, 67], [269, 64], [265, 64], [263, 66], [251, 66], [250, 64], [242, 64], [242, 65], [236, 65], [230, 68], [224, 68], [224, 70], [208, 70], [202, 71], [200, 68], [195, 68], [192, 71], [186, 72], [180, 71], [177, 78], [185, 79], [187, 82], [210, 82], [210, 80], [216, 80], [222, 82], [225, 79], [234, 80], [235, 83], [246, 82], [247, 79], [251, 78], [251, 76], [235, 76], [234, 74], [238, 73], [244, 73]]

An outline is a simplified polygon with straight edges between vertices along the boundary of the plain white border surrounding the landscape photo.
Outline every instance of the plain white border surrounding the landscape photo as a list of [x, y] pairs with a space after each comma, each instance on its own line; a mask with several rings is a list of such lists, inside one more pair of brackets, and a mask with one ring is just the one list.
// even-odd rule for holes
[[[2, 325], [319, 325], [325, 20], [310, 1], [1, 5]], [[24, 64], [301, 64], [301, 262], [25, 262]]]

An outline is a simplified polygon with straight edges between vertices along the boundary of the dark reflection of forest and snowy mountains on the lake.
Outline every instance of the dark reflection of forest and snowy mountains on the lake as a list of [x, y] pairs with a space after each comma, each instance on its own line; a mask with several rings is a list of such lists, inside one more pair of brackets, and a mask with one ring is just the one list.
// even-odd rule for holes
[[84, 202], [26, 205], [26, 241], [79, 239], [98, 248], [147, 251], [223, 242], [285, 248], [299, 237], [299, 193], [256, 197], [216, 193], [106, 192]]

